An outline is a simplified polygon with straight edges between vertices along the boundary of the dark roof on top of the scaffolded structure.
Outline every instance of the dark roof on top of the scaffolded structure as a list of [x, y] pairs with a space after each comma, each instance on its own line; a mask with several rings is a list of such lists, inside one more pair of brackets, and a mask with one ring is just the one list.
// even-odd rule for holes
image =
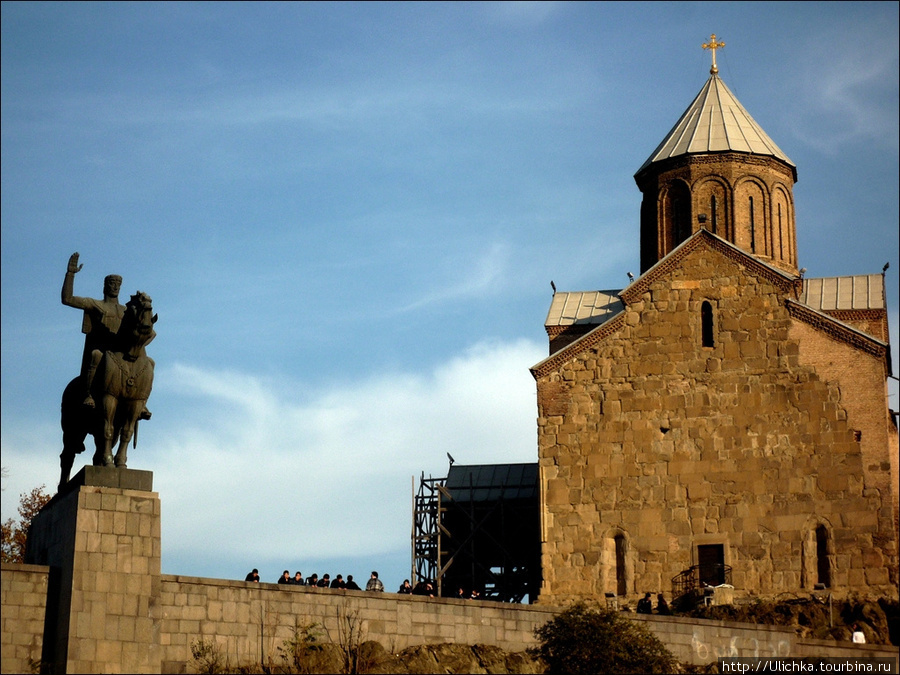
[[537, 499], [538, 465], [453, 465], [447, 472], [444, 487], [457, 501]]

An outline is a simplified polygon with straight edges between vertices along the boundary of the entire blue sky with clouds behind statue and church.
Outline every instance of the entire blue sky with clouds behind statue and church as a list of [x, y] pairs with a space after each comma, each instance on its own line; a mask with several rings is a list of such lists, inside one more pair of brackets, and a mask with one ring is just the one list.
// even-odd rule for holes
[[2, 518], [58, 478], [78, 251], [77, 295], [160, 316], [163, 571], [398, 586], [413, 476], [536, 461], [550, 280], [639, 271], [633, 174], [712, 32], [801, 266], [889, 261], [897, 339], [897, 3], [4, 2]]

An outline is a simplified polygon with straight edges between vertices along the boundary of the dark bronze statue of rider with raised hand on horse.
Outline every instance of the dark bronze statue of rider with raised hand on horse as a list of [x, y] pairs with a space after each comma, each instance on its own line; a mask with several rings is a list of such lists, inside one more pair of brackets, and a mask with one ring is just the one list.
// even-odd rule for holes
[[82, 267], [73, 253], [62, 287], [62, 303], [84, 311], [85, 340], [81, 373], [69, 382], [62, 397], [60, 489], [69, 481], [75, 455], [84, 452], [88, 434], [94, 437], [94, 466], [125, 468], [128, 443], [133, 438], [137, 445], [138, 421], [150, 419], [147, 399], [155, 364], [145, 348], [156, 337], [153, 302], [138, 291], [120, 305], [122, 277], [115, 274], [104, 280], [102, 300], [78, 297], [74, 279]]

